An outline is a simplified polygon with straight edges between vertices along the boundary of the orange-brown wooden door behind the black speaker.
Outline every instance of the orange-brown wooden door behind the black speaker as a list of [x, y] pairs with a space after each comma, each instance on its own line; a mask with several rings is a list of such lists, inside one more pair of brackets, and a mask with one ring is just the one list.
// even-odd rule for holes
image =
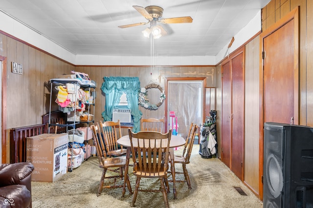
[[294, 87], [298, 86], [294, 82], [293, 21], [263, 39], [264, 122], [290, 124], [298, 117], [294, 115]]

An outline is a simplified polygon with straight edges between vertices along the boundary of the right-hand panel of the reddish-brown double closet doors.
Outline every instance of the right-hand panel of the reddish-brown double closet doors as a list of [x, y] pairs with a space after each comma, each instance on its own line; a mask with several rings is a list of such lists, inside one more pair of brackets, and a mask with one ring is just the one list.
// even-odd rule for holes
[[244, 52], [231, 59], [232, 132], [231, 170], [243, 180], [244, 168]]

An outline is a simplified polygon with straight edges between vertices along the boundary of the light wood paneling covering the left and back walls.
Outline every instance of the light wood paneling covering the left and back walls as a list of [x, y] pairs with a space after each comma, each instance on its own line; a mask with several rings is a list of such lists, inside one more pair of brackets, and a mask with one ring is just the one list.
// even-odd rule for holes
[[[215, 66], [74, 66], [25, 42], [0, 33], [0, 56], [7, 57], [7, 132], [8, 129], [42, 123], [42, 115], [49, 111], [50, 79], [70, 74], [71, 70], [85, 72], [97, 83], [95, 100], [95, 121], [103, 120], [105, 95], [101, 85], [105, 76], [139, 77], [140, 85], [159, 83], [164, 88], [166, 77], [206, 77], [207, 87], [215, 86]], [[23, 74], [12, 73], [11, 62], [21, 63]], [[152, 75], [151, 75], [152, 73]], [[149, 90], [151, 103], [158, 103], [158, 90]], [[58, 105], [52, 98], [52, 110]], [[5, 101], [3, 101], [5, 102]], [[144, 117], [164, 117], [164, 104], [157, 110], [140, 107]], [[123, 134], [127, 133], [124, 129]], [[6, 138], [7, 149], [9, 137]], [[9, 150], [7, 150], [8, 161]], [[3, 162], [3, 161], [2, 161]]]

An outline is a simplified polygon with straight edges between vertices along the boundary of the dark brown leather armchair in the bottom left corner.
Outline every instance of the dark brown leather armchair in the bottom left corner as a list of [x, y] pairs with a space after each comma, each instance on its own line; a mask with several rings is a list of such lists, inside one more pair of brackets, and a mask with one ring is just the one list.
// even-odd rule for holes
[[31, 163], [0, 164], [0, 207], [31, 208]]

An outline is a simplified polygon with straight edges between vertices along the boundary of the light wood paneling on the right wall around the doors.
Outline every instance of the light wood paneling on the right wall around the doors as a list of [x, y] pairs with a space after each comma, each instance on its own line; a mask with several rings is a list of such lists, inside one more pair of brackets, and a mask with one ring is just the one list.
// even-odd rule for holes
[[[280, 20], [292, 9], [299, 6], [300, 11], [300, 125], [313, 126], [313, 1], [312, 0], [271, 0], [262, 9], [262, 30]], [[279, 52], [279, 51], [278, 51]], [[245, 176], [244, 183], [256, 195], [262, 186], [258, 184], [259, 164], [259, 37], [246, 44], [245, 80]], [[221, 115], [222, 84], [221, 65], [216, 66], [216, 105]], [[218, 117], [218, 124], [221, 123]], [[220, 126], [218, 137], [221, 138]], [[219, 149], [219, 152], [221, 150]]]

